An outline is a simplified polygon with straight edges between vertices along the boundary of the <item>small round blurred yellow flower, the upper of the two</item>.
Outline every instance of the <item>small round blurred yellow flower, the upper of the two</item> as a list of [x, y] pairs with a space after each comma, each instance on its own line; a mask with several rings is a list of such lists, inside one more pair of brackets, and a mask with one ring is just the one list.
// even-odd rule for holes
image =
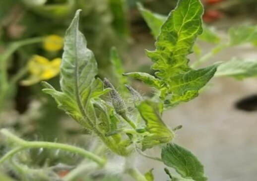
[[58, 35], [49, 35], [43, 42], [43, 48], [49, 52], [59, 51], [64, 46], [64, 38]]

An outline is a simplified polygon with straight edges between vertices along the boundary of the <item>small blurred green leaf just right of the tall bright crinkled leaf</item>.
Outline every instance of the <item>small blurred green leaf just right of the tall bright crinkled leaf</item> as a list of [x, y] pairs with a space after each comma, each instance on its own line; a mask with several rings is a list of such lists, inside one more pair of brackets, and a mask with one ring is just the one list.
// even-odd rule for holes
[[199, 36], [200, 40], [203, 40], [209, 43], [214, 43], [214, 44], [217, 44], [220, 42], [220, 37], [217, 35], [213, 27], [208, 27], [203, 24], [202, 28], [203, 28], [203, 32]]

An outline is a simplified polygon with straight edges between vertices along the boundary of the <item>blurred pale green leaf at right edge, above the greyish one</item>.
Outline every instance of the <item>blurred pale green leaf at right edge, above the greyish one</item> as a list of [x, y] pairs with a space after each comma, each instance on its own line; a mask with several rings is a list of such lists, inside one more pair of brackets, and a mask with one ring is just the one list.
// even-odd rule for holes
[[257, 26], [242, 25], [229, 29], [230, 45], [236, 46], [244, 43], [257, 42]]

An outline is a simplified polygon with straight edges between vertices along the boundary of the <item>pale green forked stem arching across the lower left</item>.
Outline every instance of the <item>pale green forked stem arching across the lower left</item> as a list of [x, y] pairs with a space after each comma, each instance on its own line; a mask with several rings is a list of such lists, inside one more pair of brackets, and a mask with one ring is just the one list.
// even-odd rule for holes
[[17, 148], [12, 149], [0, 159], [0, 164], [2, 164], [5, 160], [12, 158], [16, 153], [20, 152], [21, 150], [24, 150], [27, 148], [61, 149], [61, 150], [76, 153], [85, 158], [91, 159], [100, 166], [103, 166], [106, 162], [104, 159], [100, 158], [99, 156], [75, 146], [71, 146], [63, 143], [53, 143], [53, 142], [44, 142], [44, 141], [25, 141], [13, 135], [7, 129], [1, 129], [0, 133], [2, 133], [4, 136], [6, 136], [7, 138], [9, 138], [11, 141], [13, 141], [18, 145]]

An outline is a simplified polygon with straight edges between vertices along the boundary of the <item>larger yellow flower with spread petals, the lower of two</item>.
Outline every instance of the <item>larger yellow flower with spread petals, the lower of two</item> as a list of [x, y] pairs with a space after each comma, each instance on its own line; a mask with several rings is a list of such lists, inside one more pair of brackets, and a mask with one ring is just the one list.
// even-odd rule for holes
[[28, 86], [55, 77], [60, 72], [61, 61], [61, 58], [49, 61], [42, 56], [33, 56], [27, 64], [30, 76], [22, 80], [21, 84]]

